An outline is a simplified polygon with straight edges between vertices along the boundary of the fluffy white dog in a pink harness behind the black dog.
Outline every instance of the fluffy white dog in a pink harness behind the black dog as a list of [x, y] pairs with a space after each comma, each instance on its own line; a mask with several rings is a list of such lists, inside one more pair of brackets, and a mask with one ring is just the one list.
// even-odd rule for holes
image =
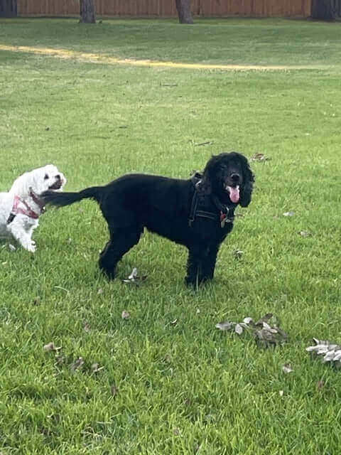
[[44, 212], [40, 193], [62, 191], [66, 178], [53, 164], [18, 177], [8, 193], [0, 193], [0, 237], [13, 236], [26, 250], [35, 252], [33, 230]]

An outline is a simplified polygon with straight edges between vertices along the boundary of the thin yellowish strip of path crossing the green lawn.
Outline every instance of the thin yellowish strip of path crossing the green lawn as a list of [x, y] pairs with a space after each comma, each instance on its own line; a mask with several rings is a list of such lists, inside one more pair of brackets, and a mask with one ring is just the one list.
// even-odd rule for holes
[[35, 48], [26, 45], [1, 45], [0, 50], [11, 52], [34, 53], [38, 55], [51, 55], [53, 57], [74, 59], [81, 62], [104, 63], [109, 65], [134, 65], [144, 67], [159, 68], [187, 68], [190, 70], [237, 70], [237, 71], [286, 71], [286, 70], [319, 70], [328, 67], [318, 65], [220, 65], [210, 63], [180, 63], [180, 62], [160, 62], [156, 60], [133, 60], [129, 58], [114, 58], [106, 54], [82, 53], [75, 50]]

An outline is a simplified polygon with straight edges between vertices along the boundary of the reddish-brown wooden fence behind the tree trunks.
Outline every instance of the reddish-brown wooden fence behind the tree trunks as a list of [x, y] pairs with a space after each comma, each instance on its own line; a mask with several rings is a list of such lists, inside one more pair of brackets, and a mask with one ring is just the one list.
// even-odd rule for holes
[[[97, 16], [174, 17], [175, 0], [95, 0]], [[192, 0], [193, 16], [310, 16], [311, 0]], [[18, 0], [19, 16], [78, 16], [79, 0]]]

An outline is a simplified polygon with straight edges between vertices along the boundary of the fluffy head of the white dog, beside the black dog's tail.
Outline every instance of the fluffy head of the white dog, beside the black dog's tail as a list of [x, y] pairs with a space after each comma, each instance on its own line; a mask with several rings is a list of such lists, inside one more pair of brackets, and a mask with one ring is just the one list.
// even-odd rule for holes
[[53, 164], [48, 164], [42, 168], [23, 173], [22, 176], [14, 181], [10, 192], [18, 196], [24, 196], [29, 193], [31, 188], [34, 193], [40, 195], [46, 190], [62, 191], [65, 183], [64, 174], [58, 171], [58, 168], [53, 166]]

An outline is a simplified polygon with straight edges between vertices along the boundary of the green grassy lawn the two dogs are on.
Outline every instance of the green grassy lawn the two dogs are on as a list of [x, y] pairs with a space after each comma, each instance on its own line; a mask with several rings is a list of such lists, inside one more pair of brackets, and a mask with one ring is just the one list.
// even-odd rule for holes
[[[72, 191], [131, 172], [188, 178], [220, 151], [270, 158], [252, 162], [253, 202], [197, 292], [183, 284], [186, 251], [147, 232], [107, 282], [97, 269], [107, 225], [91, 201], [48, 210], [35, 255], [0, 243], [1, 455], [339, 453], [341, 373], [305, 347], [341, 343], [340, 31], [0, 20], [0, 48], [288, 65], [139, 68], [0, 50], [0, 191], [50, 162]], [[307, 68], [290, 69], [298, 64]], [[148, 275], [141, 287], [121, 282], [132, 267]], [[268, 312], [289, 334], [281, 348], [215, 328]], [[58, 357], [43, 349], [50, 342]]]

